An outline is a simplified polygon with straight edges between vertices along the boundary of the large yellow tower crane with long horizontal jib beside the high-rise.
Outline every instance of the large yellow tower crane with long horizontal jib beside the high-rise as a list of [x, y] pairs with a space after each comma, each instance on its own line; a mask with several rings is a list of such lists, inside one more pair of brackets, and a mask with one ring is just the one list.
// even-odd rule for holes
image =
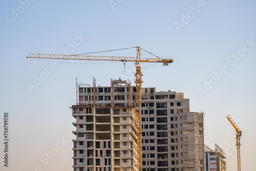
[[[157, 62], [163, 63], [164, 66], [168, 66], [172, 63], [174, 59], [164, 59], [164, 58], [146, 58], [141, 59], [141, 49], [140, 47], [133, 47], [137, 50], [137, 57], [120, 57], [120, 56], [88, 56], [88, 55], [54, 55], [54, 54], [35, 54], [29, 53], [27, 58], [45, 58], [45, 59], [72, 59], [72, 60], [105, 60], [105, 61], [122, 61], [135, 62], [136, 73], [134, 82], [136, 83], [136, 116], [137, 116], [137, 167], [138, 171], [142, 171], [142, 132], [141, 132], [141, 84], [143, 76], [141, 72], [141, 62]], [[130, 48], [125, 48], [130, 49]], [[144, 49], [142, 49], [144, 50]], [[113, 50], [111, 50], [113, 51]], [[144, 50], [145, 51], [145, 50]], [[106, 51], [103, 51], [106, 52]], [[146, 51], [147, 52], [147, 51]], [[150, 53], [150, 52], [148, 52]], [[150, 53], [151, 54], [151, 53]]]

